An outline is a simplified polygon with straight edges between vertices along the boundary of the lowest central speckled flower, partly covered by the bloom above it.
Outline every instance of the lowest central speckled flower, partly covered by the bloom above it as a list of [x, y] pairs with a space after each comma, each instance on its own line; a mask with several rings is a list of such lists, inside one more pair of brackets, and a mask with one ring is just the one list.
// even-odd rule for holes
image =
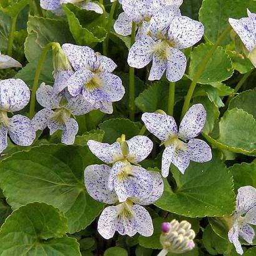
[[[99, 234], [104, 239], [110, 239], [115, 232], [132, 237], [137, 232], [149, 237], [153, 234], [152, 219], [149, 212], [140, 205], [149, 205], [160, 198], [164, 191], [164, 184], [158, 172], [150, 171], [153, 185], [149, 194], [138, 199], [127, 199], [118, 203], [118, 197], [108, 187], [111, 167], [107, 165], [89, 165], [84, 171], [87, 192], [91, 197], [106, 204], [117, 204], [103, 210], [98, 222]], [[134, 204], [133, 204], [134, 203]]]

